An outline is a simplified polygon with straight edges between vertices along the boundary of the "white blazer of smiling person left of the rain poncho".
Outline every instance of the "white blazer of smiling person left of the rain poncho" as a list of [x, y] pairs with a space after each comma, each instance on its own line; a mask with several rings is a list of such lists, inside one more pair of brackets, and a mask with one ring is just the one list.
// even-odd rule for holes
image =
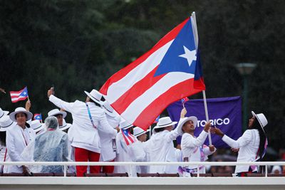
[[[26, 139], [24, 139], [24, 136]], [[9, 157], [12, 162], [21, 162], [24, 159], [21, 157], [26, 145], [36, 138], [36, 133], [31, 127], [26, 127], [23, 130], [19, 125], [15, 125], [6, 131], [6, 147]], [[9, 166], [8, 173], [22, 173], [21, 166]]]

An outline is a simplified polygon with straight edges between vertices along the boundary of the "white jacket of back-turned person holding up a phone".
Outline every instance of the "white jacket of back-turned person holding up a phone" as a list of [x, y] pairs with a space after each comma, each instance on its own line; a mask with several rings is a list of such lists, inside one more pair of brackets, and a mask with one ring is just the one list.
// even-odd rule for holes
[[93, 102], [87, 102], [93, 119], [93, 127], [85, 102], [76, 100], [76, 102], [64, 102], [63, 100], [51, 95], [49, 100], [57, 107], [71, 112], [73, 117], [73, 142], [71, 146], [88, 149], [92, 152], [101, 151], [100, 137], [98, 130], [105, 134], [113, 134], [114, 129], [108, 124], [105, 112], [101, 107], [96, 106]]

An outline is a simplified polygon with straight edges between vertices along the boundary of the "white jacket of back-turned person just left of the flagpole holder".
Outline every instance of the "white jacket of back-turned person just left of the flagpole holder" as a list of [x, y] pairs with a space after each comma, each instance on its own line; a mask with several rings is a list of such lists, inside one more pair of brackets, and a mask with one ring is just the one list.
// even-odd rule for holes
[[[171, 132], [164, 130], [152, 135], [149, 142], [150, 162], [176, 162], [173, 140], [180, 135], [177, 128]], [[150, 173], [177, 173], [178, 166], [150, 166]]]

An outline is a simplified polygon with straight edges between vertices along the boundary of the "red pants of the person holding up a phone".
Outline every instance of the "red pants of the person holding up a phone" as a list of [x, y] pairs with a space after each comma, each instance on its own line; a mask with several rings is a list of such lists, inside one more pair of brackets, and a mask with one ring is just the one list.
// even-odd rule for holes
[[[88, 149], [82, 149], [78, 147], [75, 148], [75, 159], [76, 162], [98, 162], [100, 158], [100, 153], [92, 152]], [[87, 172], [87, 166], [76, 166], [76, 176], [83, 176]], [[90, 166], [90, 173], [99, 173], [100, 166]]]

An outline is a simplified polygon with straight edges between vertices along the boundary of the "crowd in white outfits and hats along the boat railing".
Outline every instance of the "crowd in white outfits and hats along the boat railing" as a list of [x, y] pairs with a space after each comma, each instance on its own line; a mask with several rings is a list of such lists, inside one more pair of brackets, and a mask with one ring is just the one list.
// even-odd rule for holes
[[[48, 90], [48, 100], [58, 109], [48, 112], [48, 117], [41, 123], [31, 120], [29, 111], [31, 102], [26, 107], [17, 107], [14, 112], [0, 108], [0, 161], [3, 162], [204, 162], [216, 151], [214, 145], [205, 145], [208, 132], [217, 134], [234, 151], [239, 152], [237, 162], [261, 161], [266, 152], [266, 117], [252, 112], [249, 130], [242, 137], [234, 140], [221, 130], [211, 126], [210, 122], [195, 137], [197, 117], [185, 117], [187, 110], [182, 109], [180, 121], [173, 122], [170, 117], [161, 117], [152, 130], [150, 139], [147, 132], [118, 115], [102, 94], [97, 90], [86, 92], [86, 101], [65, 102], [53, 95], [53, 88]], [[70, 112], [73, 123], [65, 121]], [[177, 124], [177, 127], [175, 125]], [[175, 129], [174, 129], [175, 127]], [[182, 136], [181, 148], [174, 147], [173, 140]], [[183, 164], [181, 164], [183, 165]], [[125, 173], [136, 176], [137, 173], [166, 173], [181, 176], [205, 173], [204, 166], [186, 165], [151, 165], [151, 166], [70, 166], [68, 172], [77, 176], [86, 173]], [[3, 165], [3, 173], [63, 172], [62, 166], [13, 166]], [[237, 166], [234, 173], [244, 176], [248, 172], [257, 172], [256, 166]], [[228, 169], [231, 171], [230, 169]]]

